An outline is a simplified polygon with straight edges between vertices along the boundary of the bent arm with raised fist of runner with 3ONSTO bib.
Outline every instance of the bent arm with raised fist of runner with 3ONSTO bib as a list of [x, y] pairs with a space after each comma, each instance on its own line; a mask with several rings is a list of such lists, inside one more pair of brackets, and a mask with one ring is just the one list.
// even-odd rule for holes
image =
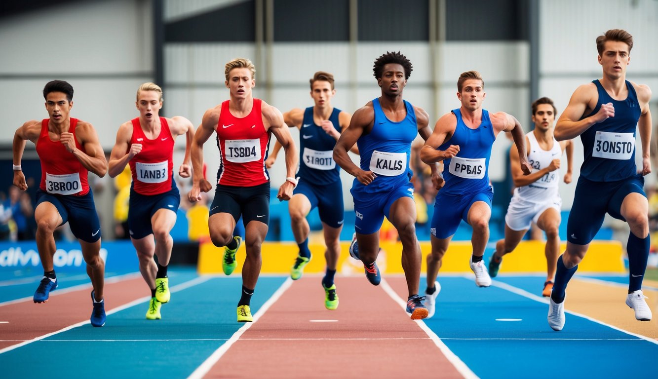
[[597, 99], [598, 92], [595, 84], [583, 84], [576, 88], [576, 91], [574, 91], [569, 99], [567, 109], [565, 109], [555, 124], [555, 131], [553, 132], [555, 139], [563, 141], [565, 139], [576, 138], [597, 122], [615, 116], [615, 108], [611, 103], [607, 103], [601, 104], [601, 109], [596, 114], [580, 120], [586, 112], [594, 110]]

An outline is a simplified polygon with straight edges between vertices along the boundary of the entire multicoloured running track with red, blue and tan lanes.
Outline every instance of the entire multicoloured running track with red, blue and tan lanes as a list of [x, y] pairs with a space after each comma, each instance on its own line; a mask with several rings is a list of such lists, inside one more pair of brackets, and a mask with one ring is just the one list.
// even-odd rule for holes
[[[263, 276], [253, 324], [236, 322], [240, 276], [170, 269], [163, 319], [145, 320], [138, 273], [107, 278], [103, 328], [89, 325], [89, 280], [63, 277], [45, 304], [40, 278], [0, 278], [3, 378], [620, 378], [655, 377], [656, 320], [624, 305], [624, 278], [576, 276], [565, 329], [547, 326], [538, 276], [440, 278], [438, 311], [424, 322], [403, 309], [402, 277], [378, 287], [336, 278], [340, 307], [324, 309], [319, 276]], [[654, 316], [658, 286], [645, 283]], [[550, 369], [551, 361], [559, 368]]]

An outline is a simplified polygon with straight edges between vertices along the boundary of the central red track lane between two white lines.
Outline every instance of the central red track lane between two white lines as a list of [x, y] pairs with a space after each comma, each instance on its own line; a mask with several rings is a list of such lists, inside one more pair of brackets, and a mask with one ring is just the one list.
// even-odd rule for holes
[[[404, 278], [387, 280], [407, 299]], [[320, 278], [294, 282], [206, 377], [462, 377], [381, 287], [365, 277], [340, 277], [336, 286], [340, 306], [328, 311]]]

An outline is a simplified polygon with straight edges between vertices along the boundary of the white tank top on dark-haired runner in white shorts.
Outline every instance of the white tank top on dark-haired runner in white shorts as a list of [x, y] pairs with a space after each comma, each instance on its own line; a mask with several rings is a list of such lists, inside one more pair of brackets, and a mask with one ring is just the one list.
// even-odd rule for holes
[[[528, 154], [528, 162], [532, 166], [532, 173], [538, 172], [543, 168], [548, 167], [553, 159], [560, 159], [562, 156], [562, 149], [560, 143], [553, 138], [553, 148], [546, 151], [540, 147], [534, 132], [526, 134], [528, 141], [530, 141], [530, 154]], [[560, 181], [560, 170], [553, 170], [548, 172], [536, 182], [528, 184], [515, 189], [515, 195], [518, 194], [524, 200], [529, 201], [548, 201], [558, 195], [557, 185]]]

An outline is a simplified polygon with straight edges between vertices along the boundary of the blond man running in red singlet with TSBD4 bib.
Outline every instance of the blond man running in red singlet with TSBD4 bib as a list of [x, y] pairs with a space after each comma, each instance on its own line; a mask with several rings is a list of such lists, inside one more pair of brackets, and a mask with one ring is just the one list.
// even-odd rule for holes
[[199, 201], [201, 191], [211, 190], [203, 178], [203, 143], [213, 132], [221, 157], [217, 172], [215, 199], [211, 204], [208, 226], [213, 243], [224, 248], [222, 269], [229, 275], [236, 268], [236, 251], [241, 243], [234, 236], [236, 222], [242, 216], [245, 225], [247, 258], [242, 267], [242, 294], [238, 302], [238, 322], [251, 322], [249, 302], [261, 273], [261, 245], [270, 218], [270, 176], [265, 167], [270, 135], [286, 151], [286, 182], [279, 188], [280, 200], [290, 200], [297, 185], [297, 151], [284, 124], [281, 112], [261, 99], [254, 99], [255, 68], [249, 59], [237, 58], [226, 64], [226, 88], [230, 100], [203, 114], [201, 126], [192, 143], [193, 185], [188, 199]]

